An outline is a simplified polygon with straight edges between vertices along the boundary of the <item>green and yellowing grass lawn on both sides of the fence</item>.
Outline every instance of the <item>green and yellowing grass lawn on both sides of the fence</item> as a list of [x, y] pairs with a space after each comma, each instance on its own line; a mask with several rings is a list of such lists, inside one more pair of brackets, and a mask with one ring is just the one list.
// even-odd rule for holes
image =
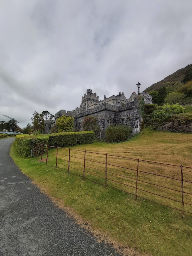
[[[94, 142], [94, 144], [79, 145], [71, 148], [192, 166], [191, 141], [192, 134], [144, 130], [144, 132], [128, 142], [118, 144]], [[58, 152], [59, 154], [65, 154], [65, 150]], [[83, 153], [80, 151], [72, 152], [78, 153], [76, 155], [71, 153], [71, 156], [77, 156], [77, 154], [80, 156]], [[134, 196], [130, 194], [110, 187], [105, 188], [100, 184], [68, 173], [66, 171], [67, 167], [64, 167], [66, 170], [56, 169], [46, 166], [45, 163], [40, 163], [34, 158], [21, 158], [16, 153], [14, 145], [10, 154], [22, 172], [32, 178], [34, 183], [38, 184], [60, 207], [67, 209], [70, 214], [77, 217], [81, 224], [89, 223], [94, 234], [102, 234], [103, 237], [107, 237], [106, 239], [114, 244], [116, 248], [118, 248], [118, 245], [122, 246], [124, 254], [132, 253], [134, 255], [136, 252], [138, 255], [148, 254], [154, 256], [192, 255], [192, 214], [186, 214], [185, 218], [181, 218], [179, 211], [141, 198], [135, 200]], [[55, 164], [51, 162], [55, 154], [55, 150], [50, 150], [48, 164]], [[89, 159], [103, 162], [103, 157], [103, 155], [94, 154], [92, 156], [90, 154]], [[60, 155], [60, 159], [65, 158]], [[71, 167], [76, 167], [79, 163], [77, 161], [81, 160], [75, 160], [74, 158], [72, 161]], [[121, 166], [129, 164], [130, 167], [134, 168], [136, 164], [135, 160], [130, 160], [127, 163], [127, 160], [124, 159], [119, 163], [119, 160], [115, 157], [109, 157], [108, 161], [109, 163], [115, 162], [116, 165], [121, 164]], [[86, 164], [90, 167], [99, 168], [100, 165], [102, 166], [100, 168], [104, 168], [103, 164], [96, 164], [95, 162], [87, 163], [86, 161]], [[61, 162], [58, 162], [58, 167], [61, 167]], [[110, 168], [113, 172], [117, 171], [113, 166]], [[141, 163], [140, 168], [163, 174], [169, 173], [169, 176], [172, 177], [180, 175], [180, 170], [177, 167], [166, 166], [166, 168], [162, 169], [160, 165], [156, 165], [154, 168], [153, 164], [149, 166], [146, 163]], [[86, 167], [86, 170], [90, 172], [91, 169]], [[123, 170], [123, 168], [119, 171], [132, 175], [132, 173]], [[78, 173], [75, 170], [74, 172]], [[86, 174], [86, 176], [88, 175], [90, 174]], [[151, 181], [154, 182], [154, 177], [142, 176], [140, 178], [152, 179]], [[191, 169], [184, 168], [184, 178], [192, 180]], [[100, 181], [100, 179], [102, 178], [98, 178], [95, 181]], [[156, 182], [160, 181], [160, 178], [157, 178]], [[167, 184], [167, 182], [167, 180], [164, 180], [164, 183]], [[179, 184], [172, 184], [171, 182], [168, 185], [172, 185], [172, 188], [179, 186]], [[139, 186], [146, 185], [139, 184]], [[150, 189], [147, 186], [145, 188]], [[190, 186], [186, 185], [185, 191], [191, 192], [190, 188]], [[159, 190], [160, 188], [157, 189]], [[161, 190], [161, 192], [167, 193], [169, 196], [175, 196], [172, 192], [165, 192], [164, 190]], [[142, 194], [142, 191], [139, 193]], [[156, 198], [154, 199], [156, 200]], [[186, 200], [190, 200], [190, 198], [186, 197]], [[179, 207], [180, 203], [178, 204]]]

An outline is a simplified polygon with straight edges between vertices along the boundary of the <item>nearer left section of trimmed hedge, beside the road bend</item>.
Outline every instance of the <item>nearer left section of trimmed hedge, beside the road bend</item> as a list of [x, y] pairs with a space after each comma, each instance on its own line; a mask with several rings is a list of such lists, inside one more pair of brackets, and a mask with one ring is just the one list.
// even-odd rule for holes
[[[32, 146], [35, 145], [36, 143], [48, 145], [48, 140], [49, 136], [44, 135], [44, 136], [16, 136], [15, 138], [15, 145], [16, 145], [16, 150], [21, 156], [31, 156], [31, 150]], [[46, 150], [46, 146], [43, 146], [43, 150]], [[37, 150], [38, 154], [40, 154], [41, 149]]]

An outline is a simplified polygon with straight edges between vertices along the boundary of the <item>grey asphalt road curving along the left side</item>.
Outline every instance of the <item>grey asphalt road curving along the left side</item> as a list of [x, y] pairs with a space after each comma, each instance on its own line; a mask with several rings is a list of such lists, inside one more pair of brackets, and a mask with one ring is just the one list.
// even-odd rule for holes
[[0, 255], [119, 254], [66, 217], [9, 156], [14, 138], [0, 140]]

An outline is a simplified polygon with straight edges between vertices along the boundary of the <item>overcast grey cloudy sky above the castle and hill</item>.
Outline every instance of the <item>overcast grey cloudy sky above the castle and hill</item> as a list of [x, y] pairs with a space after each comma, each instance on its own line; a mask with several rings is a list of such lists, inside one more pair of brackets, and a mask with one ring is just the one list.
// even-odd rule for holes
[[0, 120], [21, 128], [191, 63], [191, 0], [0, 0]]

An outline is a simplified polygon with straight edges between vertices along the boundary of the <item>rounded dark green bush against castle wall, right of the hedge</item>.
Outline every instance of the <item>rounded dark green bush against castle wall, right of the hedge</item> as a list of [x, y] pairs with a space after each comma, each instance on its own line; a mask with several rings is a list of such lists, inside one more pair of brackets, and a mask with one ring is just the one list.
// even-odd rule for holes
[[131, 138], [132, 128], [123, 125], [109, 126], [106, 128], [106, 142], [120, 142]]

